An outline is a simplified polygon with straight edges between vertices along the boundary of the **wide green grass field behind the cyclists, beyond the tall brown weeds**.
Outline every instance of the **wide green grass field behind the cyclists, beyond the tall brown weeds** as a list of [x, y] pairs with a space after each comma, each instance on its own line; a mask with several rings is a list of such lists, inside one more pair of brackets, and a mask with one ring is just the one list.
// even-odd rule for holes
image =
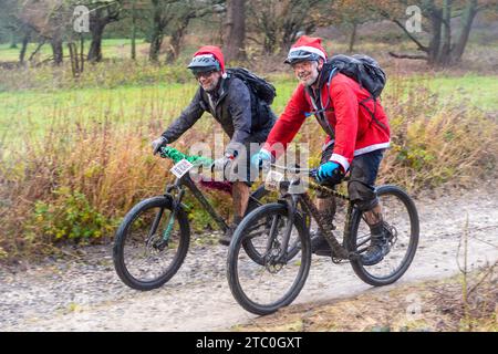
[[[438, 94], [442, 106], [448, 101], [461, 101], [465, 105], [470, 104], [484, 111], [498, 111], [498, 76], [468, 74], [461, 77], [435, 76], [421, 80], [419, 76], [413, 76], [393, 80], [408, 80], [408, 85], [415, 88], [427, 85]], [[280, 79], [274, 84], [278, 96], [273, 110], [279, 114], [292, 94], [295, 82]], [[387, 96], [392, 92], [392, 85], [387, 85], [385, 90]], [[84, 124], [112, 119], [123, 124], [145, 124], [151, 118], [157, 118], [166, 125], [188, 104], [195, 90], [195, 83], [189, 82], [117, 88], [72, 88], [49, 93], [3, 92], [0, 93], [1, 137], [3, 140], [15, 139], [22, 134], [43, 132], [58, 122]]]

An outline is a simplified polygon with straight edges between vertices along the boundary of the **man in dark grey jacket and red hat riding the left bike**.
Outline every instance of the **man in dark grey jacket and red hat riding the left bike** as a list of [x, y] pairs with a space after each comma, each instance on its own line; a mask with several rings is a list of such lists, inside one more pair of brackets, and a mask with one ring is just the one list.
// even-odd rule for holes
[[200, 87], [180, 116], [153, 142], [154, 154], [162, 146], [179, 138], [204, 112], [209, 112], [221, 125], [230, 142], [225, 156], [215, 160], [215, 168], [227, 171], [237, 157], [238, 164], [245, 164], [245, 170], [248, 171], [245, 178], [237, 176], [238, 180], [232, 183], [234, 220], [228, 232], [220, 239], [220, 243], [229, 244], [231, 233], [242, 219], [249, 200], [251, 149], [252, 153], [258, 150], [259, 144], [266, 142], [277, 116], [241, 80], [225, 72], [224, 55], [218, 46], [200, 48], [188, 69], [193, 71]]

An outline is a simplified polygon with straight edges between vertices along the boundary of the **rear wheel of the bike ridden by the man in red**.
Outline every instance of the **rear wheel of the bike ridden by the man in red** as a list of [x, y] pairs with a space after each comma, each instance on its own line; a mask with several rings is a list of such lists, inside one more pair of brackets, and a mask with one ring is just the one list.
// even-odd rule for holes
[[[377, 197], [390, 237], [390, 252], [377, 264], [367, 267], [359, 259], [351, 261], [351, 266], [367, 284], [383, 287], [398, 280], [412, 263], [418, 244], [419, 225], [414, 201], [400, 187], [382, 186], [377, 189]], [[370, 237], [363, 212], [355, 209], [347, 240], [349, 250], [362, 254], [370, 244]]]

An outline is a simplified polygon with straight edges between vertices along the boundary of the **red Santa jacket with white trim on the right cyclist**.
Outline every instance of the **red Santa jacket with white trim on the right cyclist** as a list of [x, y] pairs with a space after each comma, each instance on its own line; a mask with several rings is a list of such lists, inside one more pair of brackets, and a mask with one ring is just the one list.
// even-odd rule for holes
[[[321, 105], [325, 108], [326, 122], [334, 132], [334, 150], [332, 162], [340, 164], [344, 171], [350, 168], [354, 156], [366, 154], [390, 146], [390, 126], [387, 116], [378, 100], [364, 102], [366, 108], [374, 112], [376, 119], [372, 118], [369, 111], [360, 103], [370, 97], [365, 88], [361, 88], [356, 81], [338, 73], [332, 77], [330, 86], [321, 87]], [[329, 106], [326, 107], [326, 102]], [[270, 132], [263, 149], [278, 157], [282, 150], [272, 147], [281, 143], [283, 148], [294, 138], [307, 114], [313, 111], [313, 104], [309, 93], [302, 84], [295, 88], [280, 118]], [[373, 122], [376, 121], [376, 122]], [[324, 148], [331, 144], [331, 138], [325, 140]]]

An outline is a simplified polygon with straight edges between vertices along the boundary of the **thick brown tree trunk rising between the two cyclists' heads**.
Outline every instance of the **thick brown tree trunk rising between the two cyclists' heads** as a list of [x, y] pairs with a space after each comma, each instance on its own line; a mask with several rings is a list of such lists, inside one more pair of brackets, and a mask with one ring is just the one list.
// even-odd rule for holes
[[227, 39], [225, 56], [227, 61], [246, 59], [246, 1], [229, 0], [227, 21], [225, 22]]

